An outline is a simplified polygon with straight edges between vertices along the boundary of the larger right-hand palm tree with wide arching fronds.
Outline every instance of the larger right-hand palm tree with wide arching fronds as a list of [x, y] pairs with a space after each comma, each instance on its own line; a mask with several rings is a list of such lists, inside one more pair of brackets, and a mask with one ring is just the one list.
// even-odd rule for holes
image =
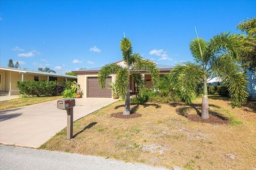
[[219, 77], [227, 86], [232, 107], [241, 106], [246, 101], [246, 75], [236, 60], [242, 49], [239, 42], [237, 35], [226, 32], [209, 41], [197, 37], [190, 42], [190, 51], [195, 62], [180, 63], [170, 73], [173, 89], [178, 91], [187, 104], [203, 88], [201, 117], [204, 119], [209, 118], [207, 78], [210, 75]]

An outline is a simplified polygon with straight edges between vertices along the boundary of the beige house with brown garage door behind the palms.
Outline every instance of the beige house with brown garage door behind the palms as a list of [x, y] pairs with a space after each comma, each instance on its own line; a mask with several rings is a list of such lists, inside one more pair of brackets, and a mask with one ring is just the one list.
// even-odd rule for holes
[[[118, 65], [125, 66], [124, 61], [119, 61], [116, 63]], [[163, 74], [169, 73], [173, 67], [170, 65], [157, 64], [157, 68], [159, 69], [160, 74], [163, 75]], [[111, 87], [109, 86], [108, 82], [110, 81], [115, 82], [116, 74], [110, 75], [110, 77], [107, 78], [106, 88], [103, 90], [100, 88], [98, 84], [98, 73], [100, 69], [101, 67], [94, 68], [94, 69], [73, 71], [74, 73], [77, 73], [77, 83], [80, 84], [80, 87], [84, 92], [83, 97], [108, 97], [108, 98], [112, 97]], [[140, 72], [144, 75], [146, 88], [153, 87], [150, 73], [147, 73], [143, 70]], [[138, 92], [138, 88], [134, 83], [132, 76], [130, 76], [130, 91], [131, 91], [131, 94], [135, 94]]]

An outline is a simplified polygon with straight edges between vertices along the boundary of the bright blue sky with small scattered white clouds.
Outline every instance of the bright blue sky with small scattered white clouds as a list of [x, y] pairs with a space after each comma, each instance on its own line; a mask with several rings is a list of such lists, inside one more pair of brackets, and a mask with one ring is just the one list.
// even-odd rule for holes
[[255, 1], [0, 1], [0, 65], [58, 73], [122, 59], [119, 41], [154, 62], [192, 61], [189, 42], [256, 16]]

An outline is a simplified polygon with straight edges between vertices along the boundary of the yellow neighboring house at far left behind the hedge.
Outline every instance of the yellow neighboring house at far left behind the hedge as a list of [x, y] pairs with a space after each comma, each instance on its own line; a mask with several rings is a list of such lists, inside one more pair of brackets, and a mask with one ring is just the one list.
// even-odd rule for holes
[[62, 82], [76, 81], [77, 77], [73, 75], [47, 73], [34, 70], [16, 69], [0, 66], [0, 92], [1, 95], [18, 95], [18, 81], [58, 81], [58, 86], [62, 86]]

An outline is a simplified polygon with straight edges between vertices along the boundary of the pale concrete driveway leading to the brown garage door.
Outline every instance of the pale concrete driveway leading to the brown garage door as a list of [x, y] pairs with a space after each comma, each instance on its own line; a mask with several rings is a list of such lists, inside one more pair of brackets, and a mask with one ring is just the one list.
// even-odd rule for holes
[[[116, 100], [76, 99], [74, 121]], [[37, 148], [67, 126], [66, 111], [57, 109], [57, 100], [0, 112], [0, 142]]]

